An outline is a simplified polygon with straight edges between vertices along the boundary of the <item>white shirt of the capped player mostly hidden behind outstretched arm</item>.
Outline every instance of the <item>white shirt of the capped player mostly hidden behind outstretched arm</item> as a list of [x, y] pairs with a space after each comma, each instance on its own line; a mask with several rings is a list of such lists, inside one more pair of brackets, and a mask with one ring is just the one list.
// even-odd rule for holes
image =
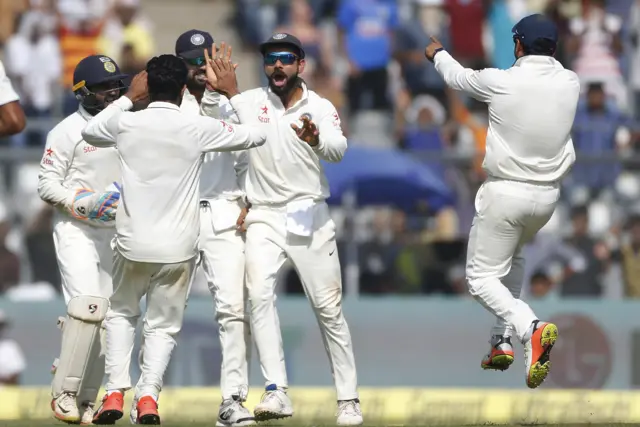
[[[195, 96], [185, 90], [180, 110], [186, 114], [209, 116], [229, 123], [239, 123], [229, 100], [209, 90], [205, 91], [201, 104], [198, 104]], [[241, 188], [242, 178], [246, 172], [247, 161], [246, 151], [214, 151], [204, 154], [200, 174], [200, 198], [235, 200], [242, 197], [244, 195]]]

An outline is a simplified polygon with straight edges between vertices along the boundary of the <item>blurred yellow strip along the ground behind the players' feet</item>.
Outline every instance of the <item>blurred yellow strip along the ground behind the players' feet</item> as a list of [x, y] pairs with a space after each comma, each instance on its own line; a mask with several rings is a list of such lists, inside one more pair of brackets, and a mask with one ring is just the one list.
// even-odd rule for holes
[[[261, 388], [252, 388], [247, 408], [259, 402]], [[295, 414], [291, 420], [265, 426], [335, 425], [336, 400], [332, 387], [292, 387], [289, 396]], [[640, 426], [640, 391], [550, 389], [360, 389], [366, 425], [475, 426], [475, 425], [590, 425]], [[0, 427], [58, 425], [51, 415], [48, 387], [0, 388]], [[167, 426], [214, 427], [220, 391], [216, 388], [167, 388], [160, 395], [160, 417]], [[125, 396], [129, 425], [131, 394]]]

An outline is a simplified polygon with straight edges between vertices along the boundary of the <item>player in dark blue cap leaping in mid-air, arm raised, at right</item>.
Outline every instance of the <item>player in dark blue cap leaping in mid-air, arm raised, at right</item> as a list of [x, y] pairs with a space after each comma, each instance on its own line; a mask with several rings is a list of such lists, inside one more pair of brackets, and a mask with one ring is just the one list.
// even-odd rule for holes
[[489, 106], [488, 177], [476, 195], [466, 266], [471, 295], [497, 317], [481, 366], [507, 369], [515, 335], [524, 345], [527, 386], [536, 388], [549, 373], [558, 329], [520, 299], [521, 249], [551, 218], [575, 161], [571, 128], [580, 84], [553, 58], [558, 31], [545, 16], [523, 18], [513, 40], [516, 62], [508, 70], [465, 69], [435, 38], [425, 53], [449, 87]]

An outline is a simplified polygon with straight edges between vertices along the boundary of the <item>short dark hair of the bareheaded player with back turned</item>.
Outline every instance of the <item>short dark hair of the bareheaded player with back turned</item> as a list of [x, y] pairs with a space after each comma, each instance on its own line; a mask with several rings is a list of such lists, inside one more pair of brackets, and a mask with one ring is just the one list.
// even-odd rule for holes
[[176, 102], [187, 84], [189, 70], [175, 55], [160, 55], [147, 62], [149, 100]]

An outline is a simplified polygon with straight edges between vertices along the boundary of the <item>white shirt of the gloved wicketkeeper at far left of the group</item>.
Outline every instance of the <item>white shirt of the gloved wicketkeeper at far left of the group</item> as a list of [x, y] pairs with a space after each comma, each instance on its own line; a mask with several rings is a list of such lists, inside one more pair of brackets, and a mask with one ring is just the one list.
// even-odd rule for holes
[[[47, 135], [40, 161], [38, 195], [69, 218], [73, 218], [68, 209], [77, 190], [102, 192], [114, 182], [120, 182], [120, 161], [115, 147], [98, 148], [82, 139], [82, 129], [90, 118], [80, 107], [58, 123]], [[83, 223], [95, 227], [115, 226], [113, 221]]]

